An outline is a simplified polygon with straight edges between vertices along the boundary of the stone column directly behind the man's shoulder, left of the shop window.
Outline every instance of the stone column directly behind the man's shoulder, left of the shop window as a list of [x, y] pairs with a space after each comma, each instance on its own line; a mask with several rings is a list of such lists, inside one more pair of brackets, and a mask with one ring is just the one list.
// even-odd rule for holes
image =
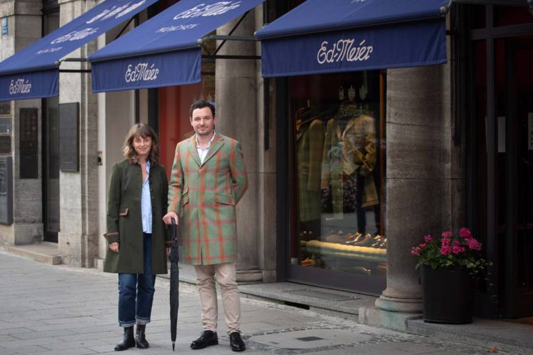
[[[227, 35], [238, 19], [217, 29], [217, 34]], [[255, 17], [253, 11], [239, 24], [234, 35], [253, 36]], [[255, 55], [255, 42], [228, 41], [221, 55]], [[237, 233], [239, 256], [237, 280], [258, 282], [262, 279], [257, 250], [259, 248], [258, 167], [257, 151], [257, 77], [255, 60], [219, 59], [215, 69], [215, 101], [217, 103], [217, 132], [242, 143], [249, 187], [237, 205]]]

